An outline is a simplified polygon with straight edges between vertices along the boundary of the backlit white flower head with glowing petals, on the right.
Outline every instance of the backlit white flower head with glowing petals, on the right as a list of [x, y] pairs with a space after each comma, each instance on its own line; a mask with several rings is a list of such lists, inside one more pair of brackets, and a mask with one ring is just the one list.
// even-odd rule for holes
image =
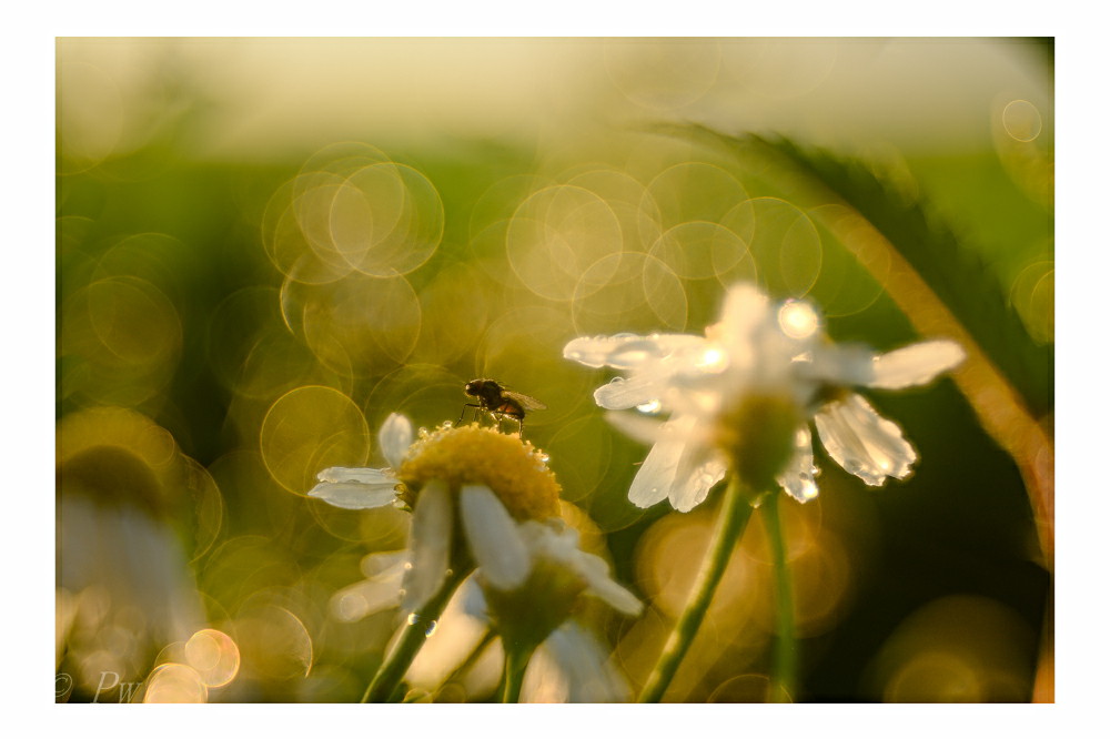
[[836, 345], [810, 303], [771, 303], [747, 284], [728, 291], [720, 320], [704, 337], [578, 337], [563, 355], [625, 374], [594, 393], [601, 407], [670, 414], [610, 419], [653, 444], [629, 499], [647, 507], [669, 498], [683, 512], [704, 500], [729, 467], [749, 485], [773, 478], [800, 502], [816, 497], [809, 419], [829, 456], [868, 485], [905, 478], [917, 459], [914, 447], [850, 388], [921, 385], [965, 356], [948, 340], [887, 354]]

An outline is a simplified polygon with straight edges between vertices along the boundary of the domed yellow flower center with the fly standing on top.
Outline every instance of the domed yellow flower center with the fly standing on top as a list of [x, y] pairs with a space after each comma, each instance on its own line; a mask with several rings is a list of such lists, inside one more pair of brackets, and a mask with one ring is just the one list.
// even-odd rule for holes
[[559, 485], [547, 468], [547, 455], [531, 442], [477, 424], [422, 429], [397, 477], [414, 492], [433, 479], [452, 490], [485, 485], [517, 520], [558, 516]]

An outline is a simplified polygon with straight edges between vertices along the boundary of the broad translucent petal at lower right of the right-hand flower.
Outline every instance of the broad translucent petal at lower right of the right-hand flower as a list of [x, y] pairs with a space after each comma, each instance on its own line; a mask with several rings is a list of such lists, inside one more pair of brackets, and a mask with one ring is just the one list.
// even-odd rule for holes
[[905, 478], [917, 459], [898, 425], [859, 395], [829, 403], [817, 412], [814, 424], [829, 456], [868, 485]]

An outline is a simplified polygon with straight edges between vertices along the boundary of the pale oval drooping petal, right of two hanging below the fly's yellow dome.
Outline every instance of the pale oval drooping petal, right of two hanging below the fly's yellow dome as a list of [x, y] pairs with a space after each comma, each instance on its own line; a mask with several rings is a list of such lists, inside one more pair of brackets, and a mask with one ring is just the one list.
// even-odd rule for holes
[[532, 561], [501, 499], [483, 485], [465, 485], [458, 505], [466, 540], [485, 579], [498, 590], [523, 585]]

